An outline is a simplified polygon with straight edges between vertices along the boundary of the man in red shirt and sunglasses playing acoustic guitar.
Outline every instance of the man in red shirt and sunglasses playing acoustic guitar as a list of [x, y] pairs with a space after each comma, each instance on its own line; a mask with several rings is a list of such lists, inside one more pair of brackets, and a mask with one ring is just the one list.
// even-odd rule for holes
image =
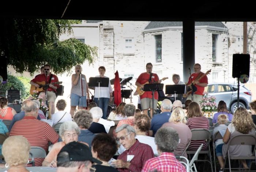
[[[53, 83], [53, 82], [59, 82], [59, 79], [56, 75], [51, 73], [51, 66], [49, 64], [45, 64], [44, 66], [44, 74], [37, 75], [34, 79], [30, 81], [31, 85], [34, 85], [35, 87], [39, 87], [38, 82], [46, 82], [46, 84]], [[50, 106], [50, 114], [54, 114], [55, 112], [55, 100], [56, 100], [56, 89], [59, 87], [59, 85], [55, 84], [49, 84], [47, 89], [47, 100]], [[45, 99], [45, 92], [41, 92], [40, 95]]]

